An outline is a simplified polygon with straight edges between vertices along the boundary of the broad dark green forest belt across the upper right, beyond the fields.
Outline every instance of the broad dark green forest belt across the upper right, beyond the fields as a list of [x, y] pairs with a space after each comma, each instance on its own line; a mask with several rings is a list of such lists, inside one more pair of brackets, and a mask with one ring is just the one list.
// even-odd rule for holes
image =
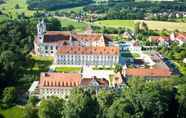
[[[102, 19], [145, 19], [150, 17], [151, 19], [167, 20], [168, 17], [176, 18], [178, 12], [186, 11], [186, 3], [110, 2], [108, 4], [85, 6], [84, 11], [105, 14]], [[158, 16], [158, 13], [165, 13], [166, 15]]]

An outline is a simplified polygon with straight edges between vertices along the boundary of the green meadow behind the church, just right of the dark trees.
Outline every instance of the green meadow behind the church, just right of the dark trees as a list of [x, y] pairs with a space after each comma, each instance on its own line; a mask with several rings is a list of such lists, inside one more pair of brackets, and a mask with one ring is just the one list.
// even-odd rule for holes
[[69, 25], [73, 25], [75, 27], [75, 31], [82, 32], [87, 28], [87, 24], [83, 22], [76, 22], [73, 19], [70, 18], [64, 18], [64, 17], [56, 17], [61, 21], [62, 27], [67, 27]]

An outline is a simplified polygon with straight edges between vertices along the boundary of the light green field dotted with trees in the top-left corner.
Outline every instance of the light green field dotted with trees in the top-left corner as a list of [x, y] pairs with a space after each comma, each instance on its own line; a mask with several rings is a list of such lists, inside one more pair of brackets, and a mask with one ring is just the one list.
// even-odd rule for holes
[[[16, 9], [16, 5], [18, 5], [19, 8]], [[0, 10], [12, 17], [16, 17], [17, 13], [24, 13], [27, 16], [31, 16], [34, 13], [34, 11], [27, 9], [26, 0], [6, 0], [5, 4], [0, 5]]]

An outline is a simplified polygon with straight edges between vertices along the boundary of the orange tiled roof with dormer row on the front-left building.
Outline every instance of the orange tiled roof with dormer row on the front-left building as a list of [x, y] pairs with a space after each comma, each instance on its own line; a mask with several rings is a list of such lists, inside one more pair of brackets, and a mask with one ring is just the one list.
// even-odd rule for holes
[[76, 87], [80, 85], [81, 75], [76, 73], [41, 73], [40, 87]]

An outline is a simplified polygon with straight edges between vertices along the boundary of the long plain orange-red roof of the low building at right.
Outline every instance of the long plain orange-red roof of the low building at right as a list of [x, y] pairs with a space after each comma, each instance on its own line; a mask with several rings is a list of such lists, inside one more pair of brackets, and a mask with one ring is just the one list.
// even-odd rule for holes
[[129, 68], [127, 69], [127, 76], [135, 77], [169, 77], [171, 72], [169, 69], [164, 68]]

